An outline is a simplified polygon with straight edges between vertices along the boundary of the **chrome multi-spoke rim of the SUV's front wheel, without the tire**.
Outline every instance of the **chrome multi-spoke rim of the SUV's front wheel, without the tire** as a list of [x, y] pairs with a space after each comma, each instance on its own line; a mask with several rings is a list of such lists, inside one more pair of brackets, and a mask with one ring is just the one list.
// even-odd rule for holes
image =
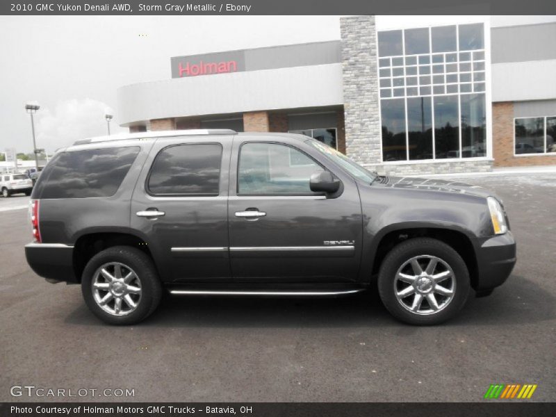
[[456, 279], [450, 265], [436, 256], [420, 255], [406, 261], [394, 279], [398, 302], [411, 313], [427, 316], [450, 304]]

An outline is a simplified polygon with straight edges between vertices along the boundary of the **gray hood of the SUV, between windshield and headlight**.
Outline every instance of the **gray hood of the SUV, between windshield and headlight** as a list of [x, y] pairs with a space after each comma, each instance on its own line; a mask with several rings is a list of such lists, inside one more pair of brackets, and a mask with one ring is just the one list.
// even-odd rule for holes
[[[452, 181], [446, 179], [427, 179], [413, 177], [378, 177], [375, 183], [381, 183], [385, 187], [390, 188], [409, 188], [411, 190], [430, 190], [440, 191], [443, 193], [458, 193], [475, 195], [477, 197], [489, 197], [496, 195], [485, 190], [480, 186], [473, 186], [460, 181]], [[496, 197], [498, 198], [498, 197]]]

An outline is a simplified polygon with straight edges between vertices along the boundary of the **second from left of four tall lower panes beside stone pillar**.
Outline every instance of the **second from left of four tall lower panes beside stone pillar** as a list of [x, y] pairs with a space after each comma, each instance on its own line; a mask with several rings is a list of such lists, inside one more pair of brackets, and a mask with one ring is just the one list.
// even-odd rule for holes
[[407, 99], [409, 159], [432, 159], [432, 107], [430, 97]]

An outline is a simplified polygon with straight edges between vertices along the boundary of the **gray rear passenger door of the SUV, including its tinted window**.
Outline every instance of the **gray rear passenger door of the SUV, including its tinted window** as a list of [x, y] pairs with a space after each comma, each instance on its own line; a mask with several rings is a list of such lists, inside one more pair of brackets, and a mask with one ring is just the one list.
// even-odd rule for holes
[[164, 281], [230, 279], [227, 228], [233, 136], [158, 139], [131, 202]]

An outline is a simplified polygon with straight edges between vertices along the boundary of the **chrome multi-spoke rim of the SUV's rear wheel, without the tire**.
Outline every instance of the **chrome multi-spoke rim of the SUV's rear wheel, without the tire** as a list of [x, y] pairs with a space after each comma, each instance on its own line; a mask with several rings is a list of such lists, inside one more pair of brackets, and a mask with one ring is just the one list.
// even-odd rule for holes
[[126, 316], [135, 311], [141, 301], [141, 281], [123, 263], [102, 265], [95, 272], [91, 286], [95, 302], [113, 316]]

